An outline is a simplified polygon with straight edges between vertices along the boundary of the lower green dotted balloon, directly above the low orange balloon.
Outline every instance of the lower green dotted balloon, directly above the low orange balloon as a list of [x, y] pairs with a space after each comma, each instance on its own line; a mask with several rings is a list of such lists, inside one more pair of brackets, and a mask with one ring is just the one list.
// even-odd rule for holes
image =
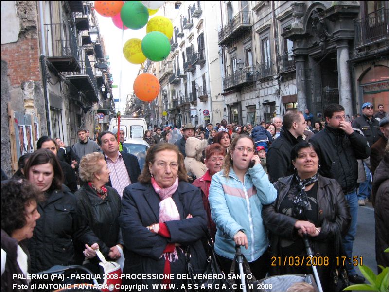
[[149, 32], [142, 39], [142, 52], [151, 61], [162, 61], [170, 54], [170, 41], [161, 32]]

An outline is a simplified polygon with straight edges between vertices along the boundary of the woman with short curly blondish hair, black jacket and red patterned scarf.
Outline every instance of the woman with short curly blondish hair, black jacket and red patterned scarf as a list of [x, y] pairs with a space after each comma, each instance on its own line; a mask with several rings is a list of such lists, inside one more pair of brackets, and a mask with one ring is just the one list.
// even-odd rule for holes
[[[85, 155], [80, 162], [79, 175], [85, 183], [75, 196], [79, 209], [96, 237], [100, 239], [100, 250], [106, 258], [116, 260], [122, 256], [123, 240], [119, 227], [119, 214], [122, 202], [118, 192], [109, 186], [110, 170], [102, 153]], [[78, 256], [80, 256], [79, 253]], [[99, 267], [99, 259], [89, 249], [84, 255], [92, 258], [91, 263]], [[93, 269], [93, 267], [90, 267]]]

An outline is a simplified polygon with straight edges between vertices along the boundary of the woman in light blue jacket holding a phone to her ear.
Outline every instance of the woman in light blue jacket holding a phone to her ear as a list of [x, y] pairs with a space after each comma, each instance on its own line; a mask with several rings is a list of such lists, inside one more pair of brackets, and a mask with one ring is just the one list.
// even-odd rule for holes
[[268, 241], [261, 213], [263, 206], [276, 198], [277, 191], [254, 154], [254, 141], [247, 135], [237, 136], [223, 170], [212, 177], [208, 198], [217, 228], [215, 252], [224, 273], [230, 273], [235, 245], [242, 245], [254, 276], [265, 277]]

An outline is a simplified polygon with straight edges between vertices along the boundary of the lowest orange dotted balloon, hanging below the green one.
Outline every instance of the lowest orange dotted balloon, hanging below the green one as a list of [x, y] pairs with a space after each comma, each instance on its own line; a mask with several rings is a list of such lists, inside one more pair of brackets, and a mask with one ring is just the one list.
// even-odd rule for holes
[[156, 76], [150, 73], [142, 73], [135, 78], [134, 93], [143, 101], [152, 101], [158, 96], [159, 81]]

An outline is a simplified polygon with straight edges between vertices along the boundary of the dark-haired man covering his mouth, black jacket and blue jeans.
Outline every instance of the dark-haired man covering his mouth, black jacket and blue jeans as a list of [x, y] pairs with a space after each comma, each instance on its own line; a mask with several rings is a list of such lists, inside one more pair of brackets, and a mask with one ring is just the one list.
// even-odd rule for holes
[[[355, 191], [358, 178], [356, 160], [368, 158], [370, 148], [366, 138], [355, 132], [351, 124], [345, 121], [346, 115], [341, 105], [328, 105], [324, 110], [324, 118], [325, 128], [313, 136], [310, 142], [319, 149], [320, 174], [336, 179], [349, 203], [351, 224], [348, 233], [343, 237], [343, 246], [348, 258], [352, 258], [358, 216], [358, 198]], [[365, 281], [365, 278], [356, 274], [350, 262], [347, 265], [347, 273], [353, 283]]]

